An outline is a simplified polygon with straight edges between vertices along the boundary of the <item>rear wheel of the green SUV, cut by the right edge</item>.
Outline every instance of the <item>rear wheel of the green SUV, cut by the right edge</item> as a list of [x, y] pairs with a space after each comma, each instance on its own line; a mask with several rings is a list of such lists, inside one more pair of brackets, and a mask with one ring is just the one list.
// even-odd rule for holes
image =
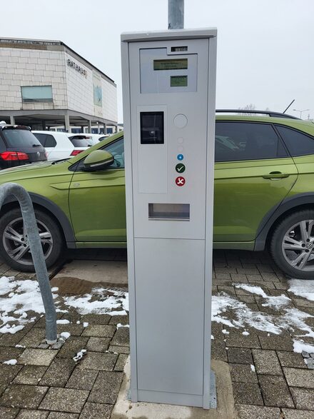
[[314, 211], [297, 211], [273, 231], [270, 254], [288, 276], [314, 279]]

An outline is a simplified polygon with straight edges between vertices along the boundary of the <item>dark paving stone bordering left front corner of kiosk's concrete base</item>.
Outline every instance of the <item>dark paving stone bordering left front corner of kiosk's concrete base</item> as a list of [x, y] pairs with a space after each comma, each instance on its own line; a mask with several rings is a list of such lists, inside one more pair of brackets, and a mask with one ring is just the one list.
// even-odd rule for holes
[[123, 373], [101, 371], [96, 378], [88, 402], [98, 402], [113, 405], [118, 397]]

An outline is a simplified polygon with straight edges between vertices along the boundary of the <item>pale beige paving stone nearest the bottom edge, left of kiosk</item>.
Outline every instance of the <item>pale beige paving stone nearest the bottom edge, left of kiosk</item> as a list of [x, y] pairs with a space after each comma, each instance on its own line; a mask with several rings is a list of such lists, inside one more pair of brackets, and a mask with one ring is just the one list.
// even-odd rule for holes
[[87, 390], [51, 387], [41, 402], [39, 409], [81, 413], [87, 398]]

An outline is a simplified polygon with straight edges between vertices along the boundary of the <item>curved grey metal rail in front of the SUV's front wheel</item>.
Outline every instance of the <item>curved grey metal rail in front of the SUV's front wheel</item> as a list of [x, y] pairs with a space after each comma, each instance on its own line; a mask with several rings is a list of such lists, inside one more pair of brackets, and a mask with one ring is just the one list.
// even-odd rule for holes
[[0, 186], [0, 209], [5, 198], [9, 195], [14, 195], [21, 207], [24, 228], [29, 239], [29, 248], [31, 250], [31, 256], [33, 257], [34, 268], [46, 313], [46, 342], [49, 345], [52, 345], [57, 341], [56, 308], [54, 306], [54, 298], [50, 288], [44, 252], [41, 247], [41, 239], [39, 237], [33, 203], [31, 202], [29, 193], [21, 185], [18, 185], [17, 183], [4, 183]]

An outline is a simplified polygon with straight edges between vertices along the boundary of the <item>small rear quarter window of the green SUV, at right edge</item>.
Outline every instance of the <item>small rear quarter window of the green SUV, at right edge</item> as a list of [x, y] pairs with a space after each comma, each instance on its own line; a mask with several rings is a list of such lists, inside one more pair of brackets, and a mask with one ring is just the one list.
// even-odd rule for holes
[[313, 137], [282, 125], [276, 125], [276, 128], [283, 138], [291, 156], [297, 157], [314, 154]]

